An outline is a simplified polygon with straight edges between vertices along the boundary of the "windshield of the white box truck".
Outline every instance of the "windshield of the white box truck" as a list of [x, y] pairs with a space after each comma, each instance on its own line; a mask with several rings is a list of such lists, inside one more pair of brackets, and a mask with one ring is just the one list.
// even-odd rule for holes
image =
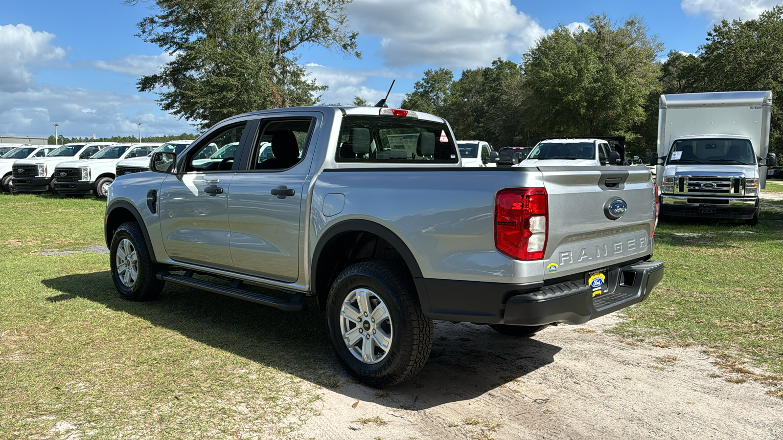
[[670, 164], [755, 165], [748, 139], [678, 139], [669, 151]]

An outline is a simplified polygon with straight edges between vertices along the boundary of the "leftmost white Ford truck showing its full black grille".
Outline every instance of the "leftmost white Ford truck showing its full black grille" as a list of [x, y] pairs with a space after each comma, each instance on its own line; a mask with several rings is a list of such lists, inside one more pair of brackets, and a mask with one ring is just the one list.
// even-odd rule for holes
[[88, 159], [114, 142], [74, 142], [61, 145], [45, 157], [31, 157], [13, 163], [14, 190], [19, 193], [56, 194], [54, 168], [67, 160]]

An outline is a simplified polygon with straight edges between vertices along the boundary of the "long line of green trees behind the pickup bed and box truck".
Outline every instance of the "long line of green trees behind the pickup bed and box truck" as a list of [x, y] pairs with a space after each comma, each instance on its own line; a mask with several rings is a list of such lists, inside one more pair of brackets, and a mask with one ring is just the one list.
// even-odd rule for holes
[[[458, 139], [532, 146], [546, 136], [624, 135], [648, 157], [658, 139], [659, 96], [771, 90], [783, 99], [783, 6], [756, 20], [723, 20], [697, 54], [670, 51], [644, 20], [588, 18], [587, 29], [557, 27], [522, 56], [491, 67], [424, 72], [402, 108], [445, 117]], [[770, 150], [783, 152], [783, 114], [773, 104]]]

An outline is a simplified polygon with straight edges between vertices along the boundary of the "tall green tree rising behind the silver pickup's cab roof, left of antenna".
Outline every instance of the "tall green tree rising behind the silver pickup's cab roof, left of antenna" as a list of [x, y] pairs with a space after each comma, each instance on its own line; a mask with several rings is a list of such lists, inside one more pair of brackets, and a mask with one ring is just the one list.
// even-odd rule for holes
[[[150, 0], [125, 0], [137, 5]], [[138, 36], [174, 59], [139, 78], [163, 110], [208, 128], [234, 114], [311, 105], [326, 87], [309, 80], [297, 50], [319, 45], [361, 57], [348, 29], [351, 0], [155, 0]]]

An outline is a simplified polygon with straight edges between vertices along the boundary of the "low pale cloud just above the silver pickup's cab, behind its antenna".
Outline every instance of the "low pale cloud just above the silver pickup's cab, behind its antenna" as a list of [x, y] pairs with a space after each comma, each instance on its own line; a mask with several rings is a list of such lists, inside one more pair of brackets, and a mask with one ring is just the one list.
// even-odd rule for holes
[[[370, 77], [388, 78], [389, 85], [391, 85], [392, 78], [417, 78], [417, 74], [413, 72], [401, 72], [391, 69], [352, 70], [342, 67], [321, 66], [316, 63], [306, 64], [305, 67], [309, 71], [310, 78], [315, 79], [317, 84], [329, 86], [329, 90], [321, 94], [321, 101], [327, 104], [340, 103], [349, 105], [352, 103], [354, 96], [366, 99], [372, 104], [377, 103], [386, 96], [388, 88], [376, 90], [366, 87], [364, 84]], [[399, 105], [404, 98], [405, 93], [391, 92], [388, 104], [389, 106]]]

